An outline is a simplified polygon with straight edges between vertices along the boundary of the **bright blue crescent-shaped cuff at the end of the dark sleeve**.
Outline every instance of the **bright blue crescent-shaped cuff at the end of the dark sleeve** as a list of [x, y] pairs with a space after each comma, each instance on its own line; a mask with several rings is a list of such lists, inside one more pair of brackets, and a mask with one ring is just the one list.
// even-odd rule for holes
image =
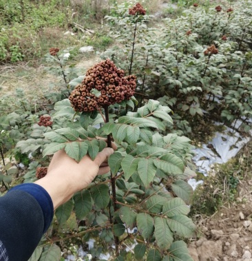
[[[34, 183], [24, 183], [10, 189], [10, 191], [14, 191], [14, 190], [25, 191], [31, 196], [33, 196], [37, 202], [39, 202], [39, 205], [43, 211], [43, 217], [44, 217], [43, 233], [45, 233], [50, 227], [52, 218], [54, 216], [54, 206], [52, 204], [52, 199], [48, 194], [48, 191], [46, 191], [40, 185]], [[8, 193], [10, 191], [8, 191]]]

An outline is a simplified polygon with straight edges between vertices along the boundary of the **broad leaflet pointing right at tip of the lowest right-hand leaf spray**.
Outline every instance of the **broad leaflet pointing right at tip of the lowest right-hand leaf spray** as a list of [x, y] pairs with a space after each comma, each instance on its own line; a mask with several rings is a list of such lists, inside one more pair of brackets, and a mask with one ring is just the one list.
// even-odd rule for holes
[[193, 236], [193, 232], [196, 229], [196, 225], [193, 224], [192, 220], [184, 215], [167, 218], [167, 224], [171, 231], [184, 238]]

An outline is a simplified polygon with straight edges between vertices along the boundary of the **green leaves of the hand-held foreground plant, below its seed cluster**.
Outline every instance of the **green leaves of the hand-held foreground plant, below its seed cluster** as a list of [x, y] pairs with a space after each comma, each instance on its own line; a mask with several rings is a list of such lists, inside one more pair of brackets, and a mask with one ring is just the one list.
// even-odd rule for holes
[[[123, 109], [126, 103], [119, 106]], [[109, 196], [108, 176], [99, 176], [89, 188], [78, 192], [56, 210], [56, 220], [60, 227], [64, 226], [74, 209], [76, 218], [85, 220], [91, 229], [90, 235], [92, 227], [106, 226], [112, 220], [112, 227], [103, 232], [106, 242], [112, 242], [111, 235], [123, 242], [125, 229], [138, 227], [138, 235], [149, 243], [155, 240], [159, 250], [143, 244], [136, 248], [136, 258], [147, 251], [147, 259], [157, 260], [163, 255], [160, 251], [171, 247], [174, 237], [187, 238], [195, 230], [195, 225], [187, 218], [189, 209], [185, 203], [189, 204], [192, 191], [183, 181], [193, 176], [185, 161], [191, 158], [190, 140], [176, 134], [158, 133], [158, 129], [163, 129], [163, 122], [172, 123], [168, 114], [171, 109], [158, 101], [149, 100], [137, 112], [128, 112], [125, 116], [117, 116], [113, 110], [111, 106], [112, 122], [102, 123], [98, 121], [103, 120], [101, 114], [76, 113], [70, 101], [59, 101], [52, 114], [58, 125], [53, 125], [52, 129], [43, 127], [37, 134], [33, 132], [36, 139], [19, 141], [17, 147], [21, 152], [43, 149], [43, 156], [64, 148], [76, 161], [86, 154], [94, 159], [105, 147], [104, 139], [112, 134], [118, 151], [109, 157], [109, 178], [114, 179], [112, 186], [116, 194], [112, 192], [112, 198]], [[57, 121], [59, 117], [63, 127]], [[98, 129], [94, 127], [97, 122], [101, 124]], [[118, 207], [112, 210], [111, 205], [115, 204]]]

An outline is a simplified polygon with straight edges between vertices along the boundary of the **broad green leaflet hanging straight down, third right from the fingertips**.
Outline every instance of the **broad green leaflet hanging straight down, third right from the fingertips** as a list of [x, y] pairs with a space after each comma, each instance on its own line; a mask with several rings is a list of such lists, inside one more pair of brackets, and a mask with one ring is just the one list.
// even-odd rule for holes
[[156, 174], [154, 160], [151, 158], [140, 158], [138, 162], [138, 174], [145, 187], [149, 187], [149, 183], [153, 181]]

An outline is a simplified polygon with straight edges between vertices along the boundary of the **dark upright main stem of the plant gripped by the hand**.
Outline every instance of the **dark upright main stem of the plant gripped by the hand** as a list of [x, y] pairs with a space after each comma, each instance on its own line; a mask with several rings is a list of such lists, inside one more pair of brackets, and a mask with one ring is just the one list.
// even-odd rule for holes
[[[108, 106], [104, 106], [103, 107], [105, 110], [105, 120], [106, 123], [109, 122], [109, 107]], [[111, 147], [112, 148], [112, 139], [110, 135], [107, 135], [107, 147]], [[111, 176], [111, 187], [112, 187], [112, 202], [113, 202], [113, 207], [114, 207], [114, 212], [116, 212], [116, 210], [118, 209], [117, 205], [116, 205], [116, 176], [113, 176], [112, 171], [110, 171], [110, 176]], [[110, 213], [110, 205], [109, 205], [109, 219], [112, 222], [112, 216]], [[114, 225], [116, 224], [116, 220], [114, 220]], [[119, 253], [119, 238], [118, 236], [114, 235], [114, 242], [116, 244], [116, 256]]]

